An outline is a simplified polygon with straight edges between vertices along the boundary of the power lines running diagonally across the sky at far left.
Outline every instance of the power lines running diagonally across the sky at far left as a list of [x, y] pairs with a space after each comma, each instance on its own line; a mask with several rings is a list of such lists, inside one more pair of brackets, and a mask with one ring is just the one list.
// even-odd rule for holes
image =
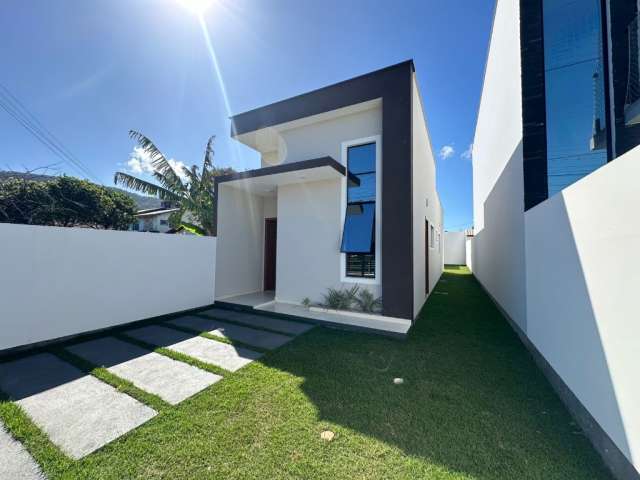
[[96, 175], [56, 137], [11, 91], [0, 84], [0, 108], [22, 125], [52, 153], [97, 183]]

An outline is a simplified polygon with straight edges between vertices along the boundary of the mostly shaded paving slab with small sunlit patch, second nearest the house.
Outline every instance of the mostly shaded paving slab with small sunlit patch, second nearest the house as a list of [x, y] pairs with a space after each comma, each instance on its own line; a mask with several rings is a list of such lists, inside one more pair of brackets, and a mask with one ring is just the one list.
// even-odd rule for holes
[[265, 332], [264, 330], [256, 330], [255, 328], [242, 327], [233, 323], [222, 322], [213, 318], [203, 318], [195, 316], [181, 317], [176, 320], [170, 320], [172, 325], [178, 327], [189, 328], [198, 332], [208, 332], [229, 340], [246, 343], [254, 347], [273, 350], [281, 347], [285, 343], [293, 340], [292, 337], [282, 335], [281, 333]]

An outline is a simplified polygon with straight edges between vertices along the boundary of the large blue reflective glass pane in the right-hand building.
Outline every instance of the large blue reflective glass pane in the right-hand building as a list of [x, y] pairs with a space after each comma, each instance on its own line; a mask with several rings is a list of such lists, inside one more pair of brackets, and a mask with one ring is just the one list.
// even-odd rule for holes
[[600, 0], [543, 0], [549, 196], [607, 162]]

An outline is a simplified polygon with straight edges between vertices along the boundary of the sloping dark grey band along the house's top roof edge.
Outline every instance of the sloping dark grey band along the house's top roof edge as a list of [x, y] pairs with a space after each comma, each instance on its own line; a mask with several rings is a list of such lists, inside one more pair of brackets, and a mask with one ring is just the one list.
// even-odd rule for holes
[[[407, 65], [410, 66], [412, 71], [415, 71], [413, 60], [406, 60], [381, 70], [234, 115], [231, 117], [231, 135], [242, 135], [261, 128], [272, 127], [373, 100], [381, 95], [380, 89], [376, 88], [377, 77], [383, 76], [390, 70]], [[362, 88], [367, 83], [372, 88]], [[376, 90], [376, 92], [374, 93], [373, 90]]]

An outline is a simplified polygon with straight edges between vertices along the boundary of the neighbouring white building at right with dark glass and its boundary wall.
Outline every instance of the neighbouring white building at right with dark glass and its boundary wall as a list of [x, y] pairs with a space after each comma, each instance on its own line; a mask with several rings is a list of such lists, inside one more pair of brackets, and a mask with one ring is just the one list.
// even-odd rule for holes
[[636, 0], [498, 0], [473, 146], [476, 278], [618, 478], [640, 478]]

